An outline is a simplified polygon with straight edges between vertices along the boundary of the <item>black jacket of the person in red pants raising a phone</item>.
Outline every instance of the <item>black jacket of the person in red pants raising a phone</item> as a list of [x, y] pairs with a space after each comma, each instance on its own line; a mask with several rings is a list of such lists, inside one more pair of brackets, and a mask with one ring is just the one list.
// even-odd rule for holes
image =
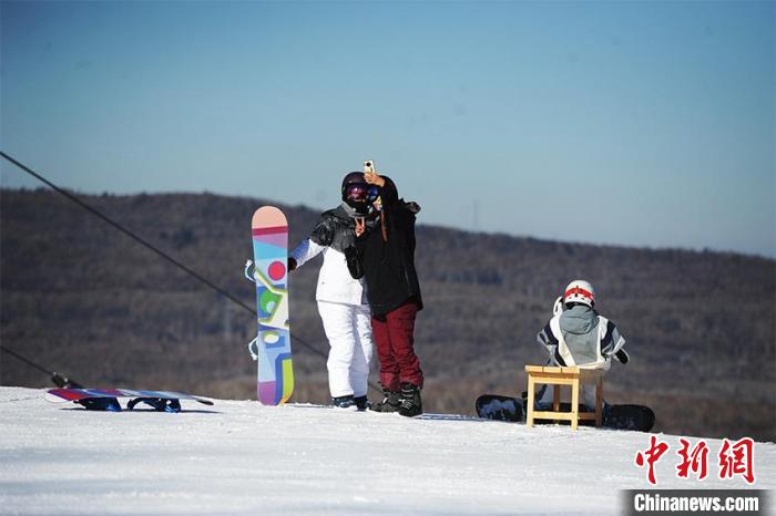
[[367, 224], [367, 231], [356, 238], [358, 264], [363, 270], [350, 274], [367, 281], [367, 297], [374, 316], [381, 317], [408, 301], [422, 309], [420, 282], [415, 270], [415, 203], [399, 198], [396, 184], [382, 176], [382, 209]]

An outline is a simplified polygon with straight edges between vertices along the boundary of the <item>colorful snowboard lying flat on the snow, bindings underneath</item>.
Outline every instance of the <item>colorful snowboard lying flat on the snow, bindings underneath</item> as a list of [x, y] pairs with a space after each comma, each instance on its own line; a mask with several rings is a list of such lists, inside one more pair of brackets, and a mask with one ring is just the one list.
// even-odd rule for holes
[[[167, 410], [167, 412], [177, 412], [180, 410], [180, 400], [192, 400], [205, 405], [213, 404], [212, 401], [205, 400], [204, 398], [173, 391], [135, 391], [131, 389], [51, 389], [45, 393], [45, 400], [52, 403], [72, 401], [85, 406], [86, 409], [108, 411], [121, 410], [116, 398], [137, 399], [133, 400], [134, 403], [131, 401], [127, 409], [134, 407], [137, 401], [145, 400], [150, 400], [152, 402], [155, 401], [157, 410], [177, 407], [177, 410]], [[99, 403], [100, 401], [104, 401], [105, 403]], [[170, 401], [171, 403], [166, 403], [165, 401]], [[152, 404], [150, 402], [146, 403]]]

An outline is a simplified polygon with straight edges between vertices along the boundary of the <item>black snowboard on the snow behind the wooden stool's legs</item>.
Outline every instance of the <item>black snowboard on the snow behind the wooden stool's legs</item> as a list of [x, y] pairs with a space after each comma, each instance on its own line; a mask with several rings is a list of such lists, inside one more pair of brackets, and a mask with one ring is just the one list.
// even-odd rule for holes
[[[482, 394], [477, 399], [477, 415], [496, 421], [525, 421], [523, 400], [498, 394]], [[571, 404], [561, 403], [562, 411], [570, 411]], [[649, 432], [655, 424], [655, 413], [643, 405], [607, 405], [603, 425], [614, 430]]]

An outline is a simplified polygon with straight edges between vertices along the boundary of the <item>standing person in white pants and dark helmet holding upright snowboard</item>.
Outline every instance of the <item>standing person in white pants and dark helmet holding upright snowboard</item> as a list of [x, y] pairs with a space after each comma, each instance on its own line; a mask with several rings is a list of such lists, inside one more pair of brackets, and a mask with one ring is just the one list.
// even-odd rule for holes
[[355, 228], [356, 220], [363, 221], [368, 214], [369, 192], [363, 173], [346, 175], [343, 203], [321, 214], [310, 236], [288, 258], [288, 269], [294, 270], [324, 255], [315, 298], [330, 347], [326, 368], [331, 403], [343, 409], [366, 410], [368, 403], [371, 313], [365, 280], [354, 279], [349, 267], [360, 267], [355, 250]]

